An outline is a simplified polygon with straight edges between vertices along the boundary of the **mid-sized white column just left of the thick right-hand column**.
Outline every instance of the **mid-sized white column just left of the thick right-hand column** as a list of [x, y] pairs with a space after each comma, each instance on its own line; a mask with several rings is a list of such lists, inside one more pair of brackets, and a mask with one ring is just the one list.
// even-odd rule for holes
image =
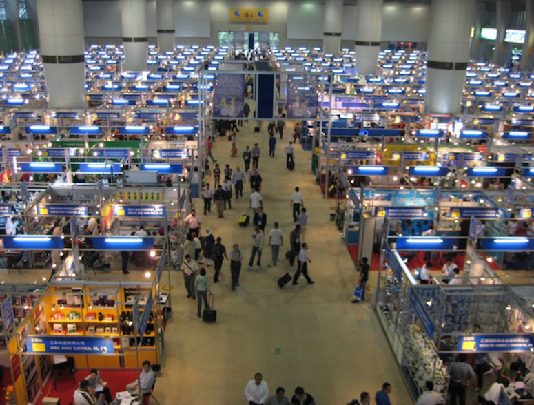
[[375, 74], [382, 34], [383, 0], [358, 0], [356, 13], [356, 72]]

